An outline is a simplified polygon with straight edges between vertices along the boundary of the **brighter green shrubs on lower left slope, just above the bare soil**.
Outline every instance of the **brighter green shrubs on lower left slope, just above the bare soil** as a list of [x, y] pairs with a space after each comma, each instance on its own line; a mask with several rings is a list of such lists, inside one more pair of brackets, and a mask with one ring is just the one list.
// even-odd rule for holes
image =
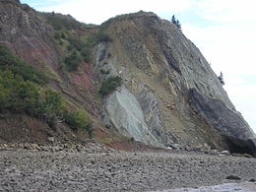
[[63, 97], [56, 91], [42, 90], [10, 71], [0, 71], [0, 90], [0, 112], [25, 112], [45, 120], [51, 128], [55, 128], [58, 119], [63, 119], [73, 130], [93, 133], [88, 114], [83, 111], [69, 112]]

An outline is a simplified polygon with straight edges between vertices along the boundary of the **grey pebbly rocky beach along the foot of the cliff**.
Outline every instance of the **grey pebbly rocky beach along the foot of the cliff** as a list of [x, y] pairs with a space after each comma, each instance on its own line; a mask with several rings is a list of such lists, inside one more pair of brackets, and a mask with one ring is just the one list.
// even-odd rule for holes
[[[256, 179], [256, 159], [99, 144], [0, 145], [0, 191], [156, 191]], [[229, 178], [229, 179], [227, 179]]]

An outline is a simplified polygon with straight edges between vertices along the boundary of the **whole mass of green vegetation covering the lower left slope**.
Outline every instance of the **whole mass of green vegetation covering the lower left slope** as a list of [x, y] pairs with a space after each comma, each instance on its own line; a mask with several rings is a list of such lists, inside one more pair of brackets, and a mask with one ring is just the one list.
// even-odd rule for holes
[[0, 113], [27, 113], [53, 129], [63, 121], [73, 130], [86, 130], [92, 135], [92, 122], [86, 112], [70, 112], [60, 93], [41, 87], [45, 84], [43, 76], [32, 66], [2, 45], [0, 53]]

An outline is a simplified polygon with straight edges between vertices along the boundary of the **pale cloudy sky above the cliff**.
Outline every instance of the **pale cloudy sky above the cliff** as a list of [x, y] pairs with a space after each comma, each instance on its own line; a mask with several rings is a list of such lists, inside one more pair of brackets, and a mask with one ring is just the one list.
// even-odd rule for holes
[[254, 0], [21, 0], [37, 11], [70, 14], [86, 24], [143, 11], [169, 20], [174, 14], [183, 33], [206, 57], [224, 90], [256, 132], [256, 12]]

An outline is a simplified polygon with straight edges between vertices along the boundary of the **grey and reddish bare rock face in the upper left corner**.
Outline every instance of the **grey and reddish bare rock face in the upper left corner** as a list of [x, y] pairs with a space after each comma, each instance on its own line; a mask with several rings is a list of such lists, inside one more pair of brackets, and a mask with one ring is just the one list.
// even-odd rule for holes
[[29, 63], [56, 68], [59, 56], [52, 41], [53, 31], [35, 11], [7, 1], [1, 3], [0, 13], [0, 42]]

